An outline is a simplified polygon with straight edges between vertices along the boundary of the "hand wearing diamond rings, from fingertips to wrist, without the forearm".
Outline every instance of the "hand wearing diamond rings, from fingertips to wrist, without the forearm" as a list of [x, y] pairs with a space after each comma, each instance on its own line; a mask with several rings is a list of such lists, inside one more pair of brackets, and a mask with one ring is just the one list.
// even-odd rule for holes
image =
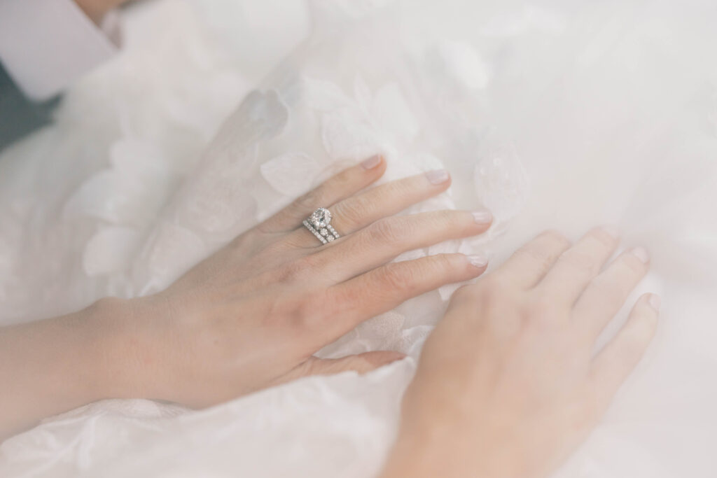
[[[312, 354], [410, 297], [481, 274], [481, 256], [387, 262], [480, 234], [491, 217], [487, 211], [394, 216], [445, 191], [450, 176], [432, 171], [362, 191], [385, 168], [380, 157], [348, 168], [168, 290], [130, 301], [131, 318], [108, 325], [120, 340], [106, 355], [123, 357], [108, 364], [109, 395], [208, 406], [300, 376], [364, 372], [401, 358], [388, 351], [338, 360]], [[320, 206], [333, 213], [331, 225], [342, 234], [325, 246], [302, 226]]]

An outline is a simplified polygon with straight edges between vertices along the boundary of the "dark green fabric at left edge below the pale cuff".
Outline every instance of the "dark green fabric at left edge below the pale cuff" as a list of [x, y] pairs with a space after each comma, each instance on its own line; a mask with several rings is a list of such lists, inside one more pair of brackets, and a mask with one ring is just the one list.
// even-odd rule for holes
[[28, 100], [0, 63], [0, 150], [27, 133], [47, 125], [59, 97], [42, 103]]

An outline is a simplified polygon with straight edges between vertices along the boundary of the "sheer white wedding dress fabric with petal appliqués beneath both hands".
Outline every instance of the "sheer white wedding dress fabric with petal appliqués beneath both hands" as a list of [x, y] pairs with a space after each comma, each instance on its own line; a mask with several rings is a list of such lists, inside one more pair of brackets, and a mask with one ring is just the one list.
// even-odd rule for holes
[[[382, 181], [452, 172], [448, 193], [409, 212], [483, 205], [496, 217], [483, 238], [399, 260], [485, 250], [495, 267], [541, 229], [576, 237], [601, 223], [649, 247], [639, 292], [664, 297], [655, 345], [558, 476], [712, 477], [716, 21], [700, 1], [136, 8], [121, 57], [68, 92], [55, 125], [0, 158], [0, 319], [161, 290], [293, 196], [382, 153]], [[407, 360], [205, 411], [93, 403], [5, 441], [0, 474], [371, 477], [454, 289], [320, 351]]]

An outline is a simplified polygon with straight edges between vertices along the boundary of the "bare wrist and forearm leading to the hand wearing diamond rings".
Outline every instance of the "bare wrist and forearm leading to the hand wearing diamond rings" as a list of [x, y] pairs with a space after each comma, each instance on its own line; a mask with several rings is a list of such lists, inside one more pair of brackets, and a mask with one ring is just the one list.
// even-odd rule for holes
[[[39, 419], [113, 396], [111, 330], [122, 322], [119, 300], [80, 312], [0, 329], [0, 440]], [[120, 317], [120, 320], [115, 320]], [[110, 334], [108, 334], [110, 331]]]

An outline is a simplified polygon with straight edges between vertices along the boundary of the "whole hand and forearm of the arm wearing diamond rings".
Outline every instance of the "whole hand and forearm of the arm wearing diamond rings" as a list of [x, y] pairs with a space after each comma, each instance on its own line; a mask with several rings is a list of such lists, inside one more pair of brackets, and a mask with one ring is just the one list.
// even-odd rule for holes
[[[159, 398], [191, 407], [300, 376], [369, 371], [402, 358], [313, 353], [410, 297], [477, 277], [485, 260], [402, 252], [483, 233], [487, 211], [394, 216], [450, 186], [432, 171], [368, 190], [376, 156], [346, 169], [238, 236], [167, 290], [103, 299], [76, 314], [0, 329], [3, 436], [101, 398]], [[322, 246], [301, 222], [328, 206], [343, 236]], [[471, 262], [473, 260], [473, 263]], [[477, 264], [477, 265], [476, 265]]]

